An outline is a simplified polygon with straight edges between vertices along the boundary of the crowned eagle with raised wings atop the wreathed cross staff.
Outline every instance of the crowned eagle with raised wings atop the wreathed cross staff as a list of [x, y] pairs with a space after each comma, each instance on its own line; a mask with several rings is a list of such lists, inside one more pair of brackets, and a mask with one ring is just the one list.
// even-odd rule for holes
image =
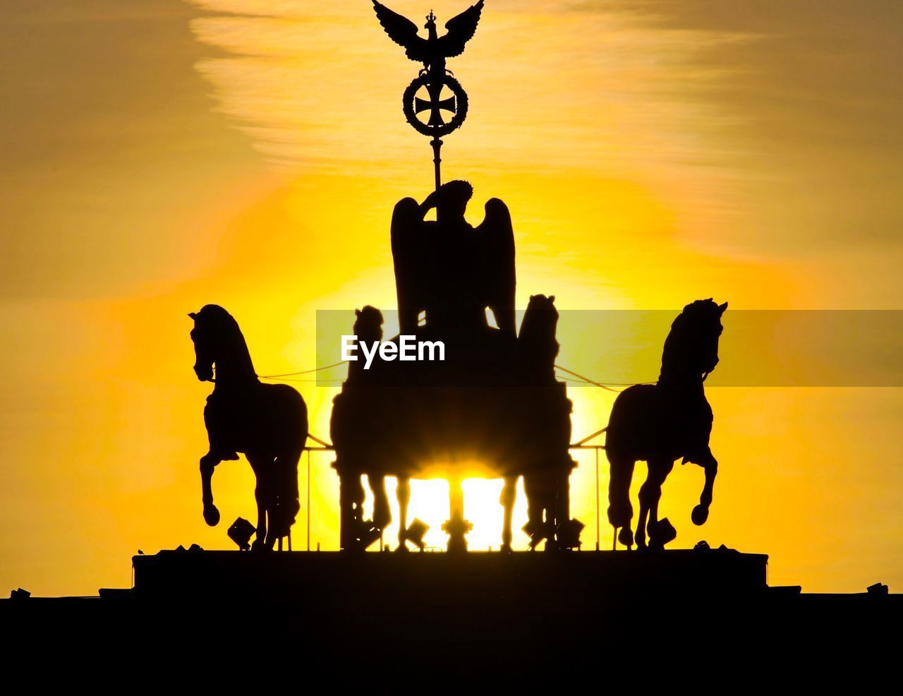
[[386, 5], [373, 0], [373, 9], [377, 12], [379, 24], [392, 41], [405, 49], [405, 55], [412, 61], [424, 63], [427, 71], [442, 74], [445, 71], [445, 59], [453, 58], [464, 52], [464, 44], [477, 31], [479, 14], [483, 10], [483, 0], [470, 7], [445, 23], [448, 32], [443, 36], [436, 34], [436, 17], [431, 11], [426, 17], [424, 29], [428, 37], [417, 35], [417, 25], [406, 17], [390, 10]]

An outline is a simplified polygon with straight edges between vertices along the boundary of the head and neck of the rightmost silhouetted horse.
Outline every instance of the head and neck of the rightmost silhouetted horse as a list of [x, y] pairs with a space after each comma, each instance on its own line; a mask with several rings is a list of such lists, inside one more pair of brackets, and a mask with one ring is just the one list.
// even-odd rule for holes
[[711, 297], [684, 307], [665, 341], [662, 379], [705, 380], [718, 364], [721, 315], [727, 308], [728, 303], [718, 305]]

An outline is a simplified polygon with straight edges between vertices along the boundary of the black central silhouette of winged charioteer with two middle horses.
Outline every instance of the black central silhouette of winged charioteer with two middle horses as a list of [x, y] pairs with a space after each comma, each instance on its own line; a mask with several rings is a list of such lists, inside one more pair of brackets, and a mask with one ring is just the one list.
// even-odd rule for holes
[[[571, 401], [554, 378], [554, 297], [531, 297], [517, 336], [511, 217], [504, 202], [491, 199], [485, 220], [472, 227], [464, 218], [471, 194], [469, 183], [454, 181], [423, 203], [405, 198], [396, 205], [392, 255], [401, 334], [441, 341], [445, 360], [375, 361], [368, 371], [352, 363], [330, 423], [344, 549], [366, 548], [388, 524], [386, 475], [398, 478], [399, 550], [406, 549], [413, 476], [450, 480], [452, 515], [443, 529], [450, 550], [466, 549], [470, 526], [463, 519], [461, 476], [473, 462], [505, 480], [503, 550], [511, 548], [520, 475], [533, 493], [531, 543], [579, 544], [579, 522], [564, 524], [571, 522], [567, 482], [574, 463], [568, 453]], [[436, 220], [424, 221], [432, 208]], [[487, 309], [498, 328], [488, 324]], [[378, 340], [381, 324], [378, 310], [365, 307], [355, 333]], [[364, 474], [376, 499], [372, 520], [363, 519]]]

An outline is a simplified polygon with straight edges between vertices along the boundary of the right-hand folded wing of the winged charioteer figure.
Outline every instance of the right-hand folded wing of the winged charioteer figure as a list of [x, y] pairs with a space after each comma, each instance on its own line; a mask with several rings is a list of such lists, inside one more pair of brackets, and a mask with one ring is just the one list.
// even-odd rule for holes
[[507, 205], [498, 198], [486, 202], [486, 218], [479, 223], [477, 233], [483, 249], [482, 281], [486, 305], [496, 317], [498, 328], [515, 338], [515, 288], [517, 277], [514, 262], [514, 227]]

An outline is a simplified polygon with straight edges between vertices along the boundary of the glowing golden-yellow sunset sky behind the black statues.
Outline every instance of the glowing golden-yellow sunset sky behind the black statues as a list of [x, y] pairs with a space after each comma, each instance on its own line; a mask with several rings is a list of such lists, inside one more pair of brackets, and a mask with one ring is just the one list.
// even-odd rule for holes
[[[442, 22], [466, 5], [432, 0]], [[520, 307], [714, 296], [731, 306], [722, 353], [752, 356], [731, 312], [898, 310], [901, 15], [883, 0], [488, 0], [451, 64], [470, 114], [443, 174], [473, 183], [474, 223], [507, 202]], [[315, 364], [318, 310], [395, 306], [392, 207], [432, 183], [400, 108], [417, 65], [365, 0], [33, 0], [5, 8], [0, 42], [0, 591], [95, 594], [128, 585], [138, 549], [231, 544], [200, 515], [209, 384], [187, 312], [227, 307], [274, 374]], [[617, 364], [605, 343], [562, 340], [560, 362]], [[326, 437], [336, 390], [293, 386]], [[570, 394], [575, 437], [604, 426], [610, 392]], [[694, 528], [702, 472], [676, 467], [675, 545], [768, 553], [771, 584], [807, 591], [903, 585], [899, 388], [708, 396], [715, 502]], [[595, 467], [578, 457], [591, 548]], [[310, 541], [334, 549], [338, 482], [328, 454], [310, 466]], [[603, 548], [606, 484], [602, 457]], [[443, 485], [412, 495], [436, 546]], [[465, 486], [471, 548], [498, 547], [499, 489]], [[253, 519], [244, 461], [214, 491], [225, 521]]]

